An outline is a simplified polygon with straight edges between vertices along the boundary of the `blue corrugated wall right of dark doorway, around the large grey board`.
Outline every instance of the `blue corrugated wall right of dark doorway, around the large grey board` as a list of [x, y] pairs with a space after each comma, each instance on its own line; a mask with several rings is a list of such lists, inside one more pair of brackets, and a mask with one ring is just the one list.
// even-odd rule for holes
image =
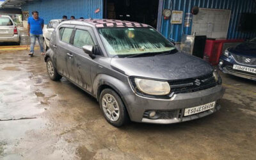
[[[256, 33], [237, 31], [240, 13], [256, 13], [256, 2], [254, 0], [164, 0], [164, 8], [182, 10], [184, 15], [191, 12], [193, 6], [231, 10], [228, 39], [252, 38], [256, 36]], [[162, 19], [161, 33], [175, 42], [180, 42], [182, 33], [191, 35], [192, 24], [190, 24], [189, 28], [184, 27], [184, 15], [182, 24], [170, 24], [170, 20]]]

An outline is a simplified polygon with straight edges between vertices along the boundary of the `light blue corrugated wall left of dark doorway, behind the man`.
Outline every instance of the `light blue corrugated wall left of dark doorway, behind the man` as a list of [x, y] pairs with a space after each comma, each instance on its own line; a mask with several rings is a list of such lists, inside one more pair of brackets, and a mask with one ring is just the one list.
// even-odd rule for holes
[[[97, 8], [100, 8], [100, 12], [94, 13]], [[22, 11], [29, 11], [29, 16], [33, 10], [39, 12], [39, 16], [45, 20], [45, 24], [51, 19], [62, 19], [63, 15], [67, 15], [68, 19], [71, 15], [76, 18], [102, 19], [103, 0], [41, 0], [22, 6]]]

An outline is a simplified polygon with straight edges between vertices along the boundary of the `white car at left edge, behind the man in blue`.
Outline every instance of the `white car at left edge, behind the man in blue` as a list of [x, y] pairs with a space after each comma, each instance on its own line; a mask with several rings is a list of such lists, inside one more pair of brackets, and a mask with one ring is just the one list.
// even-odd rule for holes
[[16, 42], [20, 45], [19, 31], [8, 15], [0, 15], [0, 42]]

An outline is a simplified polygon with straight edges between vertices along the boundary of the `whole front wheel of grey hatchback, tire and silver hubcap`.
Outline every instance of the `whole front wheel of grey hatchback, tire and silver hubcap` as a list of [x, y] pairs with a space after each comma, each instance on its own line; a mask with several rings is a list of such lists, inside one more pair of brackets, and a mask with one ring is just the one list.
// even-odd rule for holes
[[102, 90], [99, 103], [100, 109], [109, 124], [121, 127], [129, 122], [124, 103], [115, 91], [109, 88]]

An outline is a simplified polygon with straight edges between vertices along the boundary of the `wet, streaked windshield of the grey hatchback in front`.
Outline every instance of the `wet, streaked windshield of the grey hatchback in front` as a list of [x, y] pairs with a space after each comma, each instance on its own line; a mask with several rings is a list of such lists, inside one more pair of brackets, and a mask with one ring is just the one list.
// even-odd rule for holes
[[99, 28], [109, 56], [118, 58], [177, 51], [176, 48], [152, 28]]

